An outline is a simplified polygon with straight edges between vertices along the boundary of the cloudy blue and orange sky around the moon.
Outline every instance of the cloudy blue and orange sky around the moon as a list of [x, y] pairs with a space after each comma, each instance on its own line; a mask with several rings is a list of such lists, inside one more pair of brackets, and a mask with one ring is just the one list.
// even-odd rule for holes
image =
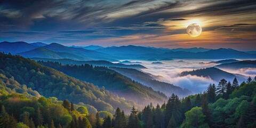
[[[255, 0], [4, 0], [0, 42], [255, 51]], [[191, 23], [202, 34], [190, 37]]]

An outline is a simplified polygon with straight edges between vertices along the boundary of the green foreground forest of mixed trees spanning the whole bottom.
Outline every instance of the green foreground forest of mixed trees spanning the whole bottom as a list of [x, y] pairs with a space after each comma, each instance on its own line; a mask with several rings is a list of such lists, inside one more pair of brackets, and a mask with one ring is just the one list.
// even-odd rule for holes
[[[152, 103], [142, 110], [130, 106], [129, 115], [125, 115], [124, 111], [118, 107], [114, 113], [111, 110], [107, 110], [110, 113], [107, 111], [90, 113], [89, 107], [75, 102], [74, 99], [66, 98], [61, 101], [60, 98], [58, 100], [47, 95], [45, 91], [39, 91], [44, 84], [33, 83], [34, 86], [31, 86], [21, 76], [24, 83], [20, 84], [21, 80], [17, 78], [23, 73], [21, 67], [25, 68], [29, 63], [26, 68], [32, 70], [31, 68], [39, 65], [35, 61], [10, 54], [1, 53], [0, 55], [0, 127], [256, 127], [256, 77], [253, 79], [249, 77], [246, 82], [241, 84], [236, 78], [233, 82], [221, 79], [218, 85], [210, 84], [203, 93], [189, 95], [186, 98], [179, 98], [172, 94], [166, 103], [156, 107]], [[53, 74], [54, 71], [58, 72], [48, 67], [39, 66], [40, 69], [35, 74], [38, 74], [39, 71], [47, 75]], [[17, 71], [13, 70], [15, 67]], [[24, 71], [24, 73], [23, 75], [26, 75], [28, 71]], [[72, 77], [61, 75], [62, 79], [51, 79], [52, 82], [65, 82], [65, 79], [72, 81]], [[35, 79], [37, 82], [42, 81], [42, 78], [36, 75]], [[75, 84], [77, 88], [81, 84], [79, 87], [85, 88], [88, 83], [79, 81]], [[58, 86], [62, 86], [62, 84], [54, 83], [54, 87]], [[49, 87], [49, 90], [51, 87], [53, 85]], [[39, 93], [35, 91], [36, 89]], [[98, 88], [95, 87], [95, 90]], [[89, 89], [84, 92], [89, 92]], [[99, 92], [106, 93], [106, 91]], [[114, 98], [116, 97], [113, 96]], [[90, 102], [93, 101], [87, 103]], [[94, 106], [97, 103], [91, 105]]]

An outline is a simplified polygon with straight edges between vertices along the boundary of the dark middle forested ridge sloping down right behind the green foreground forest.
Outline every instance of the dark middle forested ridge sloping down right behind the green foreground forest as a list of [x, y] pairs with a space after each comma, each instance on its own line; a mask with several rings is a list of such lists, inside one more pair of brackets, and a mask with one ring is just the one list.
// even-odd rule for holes
[[164, 102], [167, 98], [165, 94], [154, 91], [151, 87], [132, 81], [129, 77], [119, 74], [107, 67], [60, 65], [58, 62], [50, 61], [38, 61], [38, 63], [62, 71], [82, 81], [90, 82], [100, 87], [104, 86], [107, 90], [128, 100], [135, 101], [139, 105], [145, 105], [145, 103], [147, 104], [149, 102]]

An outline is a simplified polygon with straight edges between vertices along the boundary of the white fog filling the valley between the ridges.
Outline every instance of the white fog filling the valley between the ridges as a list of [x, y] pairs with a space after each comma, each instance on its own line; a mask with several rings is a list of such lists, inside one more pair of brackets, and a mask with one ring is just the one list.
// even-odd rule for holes
[[[124, 60], [123, 60], [124, 61]], [[145, 73], [149, 73], [154, 76], [158, 81], [171, 83], [176, 86], [180, 86], [191, 90], [193, 93], [201, 93], [207, 89], [209, 84], [218, 85], [219, 81], [214, 81], [211, 77], [201, 77], [196, 75], [180, 76], [182, 71], [191, 71], [201, 68], [208, 68], [220, 65], [220, 63], [214, 63], [214, 59], [174, 59], [171, 61], [141, 61], [141, 60], [129, 60], [131, 64], [139, 63], [147, 68], [140, 69]], [[154, 63], [161, 62], [161, 63]], [[247, 77], [256, 76], [256, 68], [241, 68], [239, 70], [220, 68], [223, 71], [227, 71], [231, 74], [241, 76], [239, 83], [246, 81]], [[208, 73], [211, 74], [211, 73]], [[234, 79], [234, 78], [233, 78]], [[227, 79], [232, 82], [233, 79]], [[220, 79], [219, 79], [220, 80]]]

